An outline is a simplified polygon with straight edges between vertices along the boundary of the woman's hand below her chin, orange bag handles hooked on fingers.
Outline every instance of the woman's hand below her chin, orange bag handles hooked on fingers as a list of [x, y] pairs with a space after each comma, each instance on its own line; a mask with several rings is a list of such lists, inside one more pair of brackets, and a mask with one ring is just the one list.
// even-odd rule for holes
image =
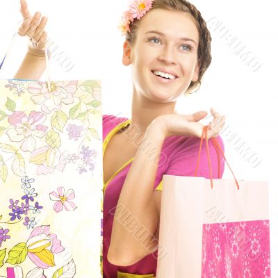
[[[152, 124], [158, 125], [163, 130], [165, 137], [195, 136], [201, 138], [204, 124], [199, 121], [206, 115], [206, 111], [199, 111], [191, 115], [167, 114], [157, 117]], [[220, 115], [213, 108], [211, 108], [211, 115], [213, 115], [213, 120], [208, 125], [208, 139], [217, 137], [225, 124], [225, 116]]]

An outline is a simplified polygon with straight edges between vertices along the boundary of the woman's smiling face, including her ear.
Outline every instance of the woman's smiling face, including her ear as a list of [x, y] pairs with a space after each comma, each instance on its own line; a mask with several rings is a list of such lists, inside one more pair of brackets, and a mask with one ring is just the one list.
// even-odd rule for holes
[[189, 13], [155, 9], [140, 19], [136, 41], [124, 44], [137, 94], [152, 101], [176, 101], [198, 79], [199, 33]]

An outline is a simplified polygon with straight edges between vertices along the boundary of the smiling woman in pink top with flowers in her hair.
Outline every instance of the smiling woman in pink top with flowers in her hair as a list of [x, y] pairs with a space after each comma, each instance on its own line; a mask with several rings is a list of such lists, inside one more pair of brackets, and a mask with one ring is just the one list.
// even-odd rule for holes
[[[22, 14], [28, 15], [24, 5], [22, 0]], [[38, 15], [32, 22], [39, 28]], [[38, 42], [35, 28], [27, 29], [22, 35]], [[207, 115], [179, 115], [175, 105], [199, 87], [211, 63], [211, 36], [199, 11], [184, 0], [133, 1], [123, 31], [122, 62], [131, 65], [133, 77], [132, 115], [104, 115], [104, 277], [155, 277], [162, 177], [194, 176], [204, 127], [199, 121]], [[23, 63], [17, 78], [26, 79], [25, 68]], [[38, 78], [43, 68], [42, 62], [37, 70], [31, 67], [28, 79]], [[218, 134], [224, 116], [213, 109], [211, 114], [208, 138], [217, 137], [223, 149]], [[217, 178], [211, 140], [209, 149]], [[219, 166], [222, 177], [223, 161]], [[198, 176], [209, 177], [205, 148]], [[135, 236], [137, 227], [144, 227], [144, 240]]]

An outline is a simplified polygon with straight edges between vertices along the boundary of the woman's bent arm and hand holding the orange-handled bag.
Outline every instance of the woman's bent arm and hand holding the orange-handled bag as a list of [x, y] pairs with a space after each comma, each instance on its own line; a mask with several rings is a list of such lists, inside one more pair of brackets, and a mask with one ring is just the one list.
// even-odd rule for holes
[[[206, 113], [187, 116], [163, 115], [149, 125], [145, 138], [161, 152], [167, 136], [173, 134], [202, 136], [204, 126], [198, 121], [205, 116]], [[208, 138], [218, 136], [221, 131], [219, 129], [215, 132], [213, 123], [224, 121], [224, 117], [220, 117], [219, 113], [215, 113], [214, 117], [210, 124], [211, 130], [208, 132]], [[156, 171], [156, 163], [139, 148], [124, 181], [114, 215], [108, 261], [115, 265], [132, 265], [154, 252], [158, 247], [161, 193], [154, 191]], [[126, 222], [129, 224], [125, 224]], [[136, 227], [142, 227], [140, 231], [145, 231], [140, 238], [134, 236], [133, 231], [137, 230]]]

